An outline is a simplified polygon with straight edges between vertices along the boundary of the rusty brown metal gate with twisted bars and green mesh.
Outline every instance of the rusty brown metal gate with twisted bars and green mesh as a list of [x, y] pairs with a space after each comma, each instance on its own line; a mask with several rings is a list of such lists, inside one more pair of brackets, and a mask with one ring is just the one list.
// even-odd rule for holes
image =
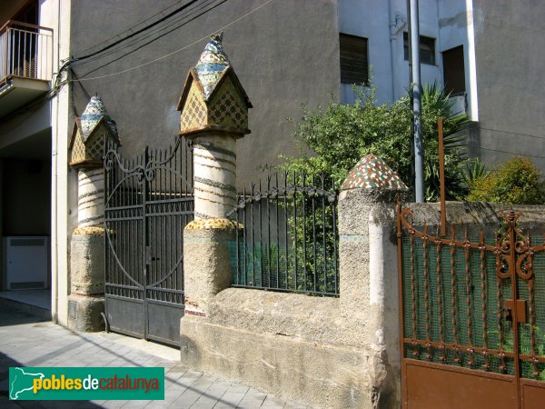
[[545, 234], [503, 217], [441, 237], [398, 206], [403, 407], [545, 407]]

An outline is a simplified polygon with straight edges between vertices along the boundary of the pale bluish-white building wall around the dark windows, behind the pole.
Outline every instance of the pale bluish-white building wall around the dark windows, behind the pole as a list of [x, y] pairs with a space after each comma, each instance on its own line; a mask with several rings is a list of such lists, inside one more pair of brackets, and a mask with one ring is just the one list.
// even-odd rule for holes
[[[436, 62], [435, 65], [421, 64], [422, 85], [442, 85], [441, 52], [464, 45], [466, 90], [469, 91], [470, 53], [474, 55], [474, 50], [468, 41], [472, 25], [466, 3], [471, 5], [471, 0], [420, 0], [419, 3], [420, 32], [435, 38]], [[339, 0], [338, 5], [339, 31], [369, 40], [369, 63], [372, 83], [377, 87], [377, 102], [391, 103], [405, 95], [410, 81], [409, 62], [403, 56], [403, 32], [408, 32], [406, 0]], [[351, 86], [342, 85], [343, 102], [352, 103], [351, 94]]]

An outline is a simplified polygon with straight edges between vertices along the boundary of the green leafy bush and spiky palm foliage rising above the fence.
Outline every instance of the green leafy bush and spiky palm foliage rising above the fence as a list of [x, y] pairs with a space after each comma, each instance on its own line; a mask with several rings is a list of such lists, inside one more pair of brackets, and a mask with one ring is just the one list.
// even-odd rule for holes
[[[299, 157], [281, 156], [280, 168], [309, 175], [332, 176], [339, 185], [352, 166], [364, 155], [378, 155], [398, 172], [405, 184], [413, 186], [411, 171], [411, 105], [405, 95], [391, 105], [376, 105], [376, 88], [357, 90], [356, 104], [332, 101], [315, 110], [302, 107], [302, 119], [293, 133], [299, 141]], [[424, 144], [424, 185], [427, 200], [439, 197], [439, 155], [437, 119], [443, 117], [445, 137], [445, 179], [449, 198], [465, 193], [461, 136], [452, 135], [469, 121], [454, 115], [449, 96], [436, 85], [422, 90], [422, 140]], [[314, 155], [306, 155], [305, 148]], [[308, 152], [308, 151], [307, 151]]]

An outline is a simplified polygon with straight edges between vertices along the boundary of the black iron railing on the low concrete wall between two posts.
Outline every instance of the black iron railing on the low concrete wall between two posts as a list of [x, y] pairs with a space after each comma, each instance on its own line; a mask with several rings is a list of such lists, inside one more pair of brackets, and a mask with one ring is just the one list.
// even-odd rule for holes
[[337, 192], [325, 177], [275, 174], [239, 195], [233, 286], [338, 295]]

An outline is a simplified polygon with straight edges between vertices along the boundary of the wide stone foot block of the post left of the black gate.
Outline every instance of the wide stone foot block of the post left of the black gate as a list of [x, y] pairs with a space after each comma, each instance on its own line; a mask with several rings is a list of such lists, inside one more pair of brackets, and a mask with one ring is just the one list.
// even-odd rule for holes
[[95, 333], [104, 331], [103, 297], [68, 296], [68, 328], [82, 332]]

